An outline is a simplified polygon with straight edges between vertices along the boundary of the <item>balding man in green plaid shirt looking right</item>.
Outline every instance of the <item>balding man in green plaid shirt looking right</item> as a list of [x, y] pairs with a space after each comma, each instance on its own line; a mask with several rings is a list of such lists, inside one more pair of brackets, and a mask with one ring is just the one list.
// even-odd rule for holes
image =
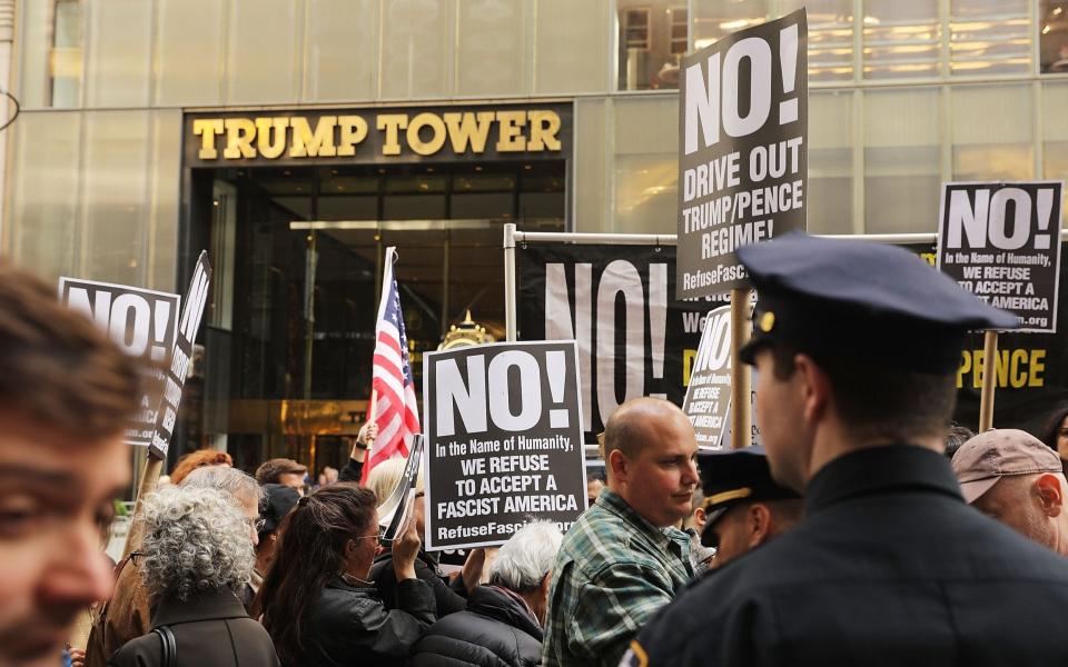
[[615, 667], [646, 620], [693, 577], [673, 528], [699, 484], [693, 427], [656, 398], [625, 402], [605, 427], [609, 486], [564, 537], [548, 598], [545, 667]]

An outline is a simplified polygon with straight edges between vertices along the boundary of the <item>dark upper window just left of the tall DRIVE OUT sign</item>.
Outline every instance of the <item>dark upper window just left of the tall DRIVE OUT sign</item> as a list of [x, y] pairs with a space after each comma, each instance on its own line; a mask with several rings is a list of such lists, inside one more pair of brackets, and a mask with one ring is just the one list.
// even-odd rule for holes
[[681, 0], [616, 0], [619, 90], [679, 88], [689, 14]]

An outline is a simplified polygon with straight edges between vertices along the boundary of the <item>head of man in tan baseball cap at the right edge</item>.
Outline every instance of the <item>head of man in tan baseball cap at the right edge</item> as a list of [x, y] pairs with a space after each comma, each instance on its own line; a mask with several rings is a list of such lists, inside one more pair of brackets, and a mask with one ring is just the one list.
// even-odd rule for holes
[[1057, 452], [1041, 440], [1017, 429], [989, 430], [953, 455], [953, 471], [969, 505], [1068, 556], [1068, 481]]

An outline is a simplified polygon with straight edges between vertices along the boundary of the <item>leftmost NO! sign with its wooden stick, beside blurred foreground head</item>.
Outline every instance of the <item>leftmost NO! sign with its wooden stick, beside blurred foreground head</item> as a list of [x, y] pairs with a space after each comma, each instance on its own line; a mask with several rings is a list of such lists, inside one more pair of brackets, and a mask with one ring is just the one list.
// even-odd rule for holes
[[178, 332], [178, 295], [95, 280], [59, 279], [59, 300], [80, 310], [122, 350], [145, 364], [145, 390], [123, 432], [129, 445], [148, 446], [156, 430], [156, 407], [164, 389], [162, 366]]

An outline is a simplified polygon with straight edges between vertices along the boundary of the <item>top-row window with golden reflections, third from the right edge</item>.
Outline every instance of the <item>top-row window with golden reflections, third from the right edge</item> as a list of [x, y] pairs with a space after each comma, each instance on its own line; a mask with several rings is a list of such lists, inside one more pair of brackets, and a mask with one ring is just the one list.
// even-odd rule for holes
[[864, 0], [864, 78], [937, 77], [938, 0]]

